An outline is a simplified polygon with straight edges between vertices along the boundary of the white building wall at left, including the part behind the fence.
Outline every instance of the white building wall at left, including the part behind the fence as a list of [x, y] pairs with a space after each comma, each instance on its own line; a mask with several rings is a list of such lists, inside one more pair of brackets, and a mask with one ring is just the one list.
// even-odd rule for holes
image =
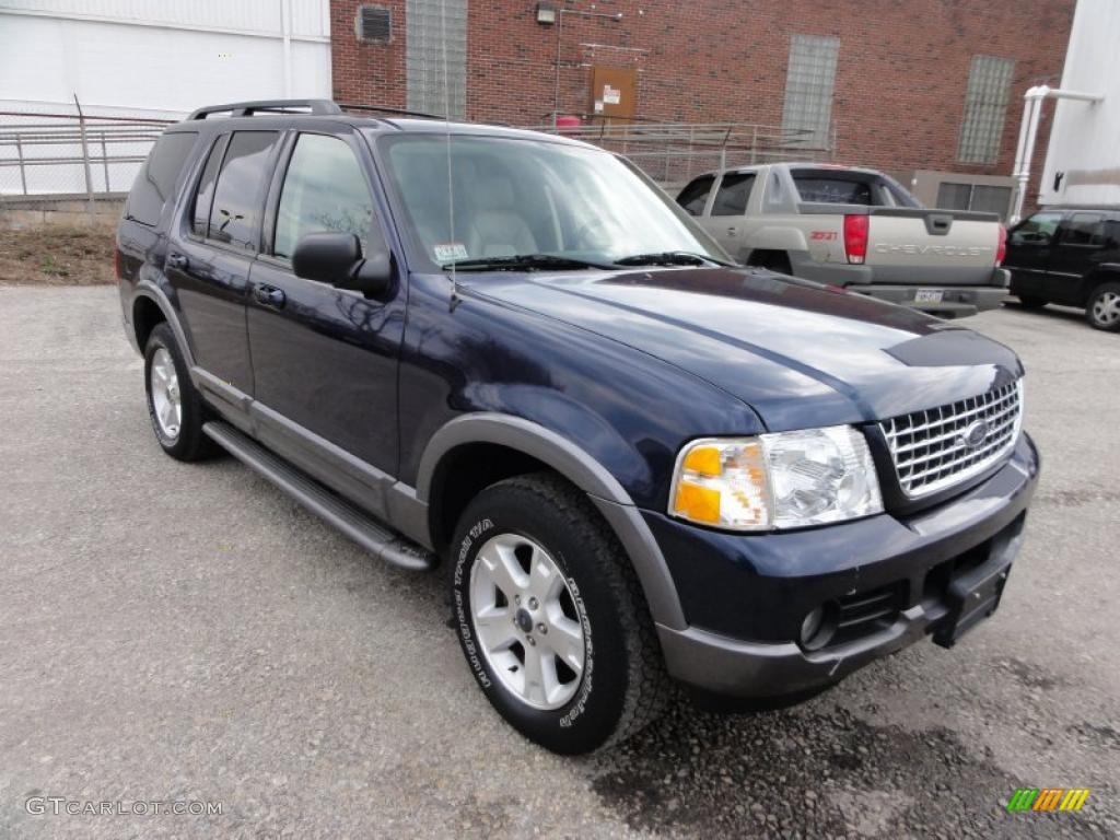
[[[76, 114], [76, 94], [86, 114], [177, 120], [207, 104], [330, 92], [328, 0], [0, 0], [0, 111]], [[68, 127], [67, 142], [28, 144], [44, 125]], [[102, 125], [114, 124], [90, 123], [94, 156]], [[84, 193], [74, 128], [0, 115], [0, 195]], [[104, 148], [113, 160], [91, 167], [92, 189], [127, 190], [151, 140]]]

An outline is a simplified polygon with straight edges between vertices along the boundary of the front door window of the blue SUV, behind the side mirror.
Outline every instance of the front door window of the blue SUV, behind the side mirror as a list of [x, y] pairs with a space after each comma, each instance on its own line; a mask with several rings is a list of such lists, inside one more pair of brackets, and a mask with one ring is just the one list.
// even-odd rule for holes
[[300, 134], [284, 175], [273, 253], [291, 258], [309, 233], [353, 233], [368, 249], [373, 197], [362, 167], [344, 140]]

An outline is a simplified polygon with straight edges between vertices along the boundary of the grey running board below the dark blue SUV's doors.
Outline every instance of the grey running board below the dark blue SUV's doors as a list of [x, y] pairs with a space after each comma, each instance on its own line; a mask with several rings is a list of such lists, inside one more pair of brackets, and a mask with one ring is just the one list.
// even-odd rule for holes
[[377, 559], [411, 571], [426, 571], [436, 566], [437, 558], [432, 552], [393, 533], [370, 514], [336, 496], [228, 423], [211, 421], [203, 424], [203, 431], [237, 460], [268, 478]]

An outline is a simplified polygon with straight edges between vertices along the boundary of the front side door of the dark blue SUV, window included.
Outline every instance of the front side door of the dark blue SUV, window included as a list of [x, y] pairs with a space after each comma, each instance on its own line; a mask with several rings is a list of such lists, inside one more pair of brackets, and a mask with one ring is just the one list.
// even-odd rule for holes
[[[248, 323], [253, 393], [267, 409], [259, 420], [272, 427], [262, 428], [262, 436], [280, 436], [284, 446], [301, 449], [286, 454], [376, 508], [368, 496], [343, 486], [348, 479], [339, 470], [356, 472], [373, 484], [396, 474], [404, 295], [395, 283], [384, 300], [367, 299], [298, 278], [289, 260], [302, 236], [321, 231], [354, 233], [364, 253], [384, 248], [374, 218], [372, 171], [361, 152], [349, 134], [296, 138], [282, 183], [278, 177], [273, 184], [265, 227], [274, 232], [265, 249], [272, 254], [253, 265]], [[288, 422], [273, 422], [276, 416]]]

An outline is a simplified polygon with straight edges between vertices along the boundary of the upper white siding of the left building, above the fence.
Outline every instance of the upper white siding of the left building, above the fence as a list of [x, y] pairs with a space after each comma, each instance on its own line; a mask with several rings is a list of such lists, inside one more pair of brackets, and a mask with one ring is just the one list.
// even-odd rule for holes
[[0, 0], [0, 110], [329, 99], [329, 20], [328, 0]]

